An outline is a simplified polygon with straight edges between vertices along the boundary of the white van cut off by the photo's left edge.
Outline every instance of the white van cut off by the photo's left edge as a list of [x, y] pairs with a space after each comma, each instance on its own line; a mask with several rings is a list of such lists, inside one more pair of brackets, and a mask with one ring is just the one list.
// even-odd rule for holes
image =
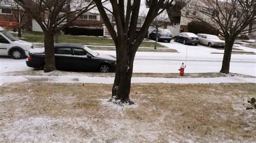
[[30, 42], [16, 39], [4, 28], [0, 27], [0, 55], [11, 55], [14, 59], [22, 59], [33, 48]]

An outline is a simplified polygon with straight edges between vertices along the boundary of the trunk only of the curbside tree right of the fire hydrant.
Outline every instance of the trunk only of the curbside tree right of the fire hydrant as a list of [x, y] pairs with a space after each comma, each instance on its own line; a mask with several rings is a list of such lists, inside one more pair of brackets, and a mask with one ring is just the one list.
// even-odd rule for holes
[[223, 56], [222, 67], [220, 73], [230, 73], [230, 60], [232, 54], [232, 48], [234, 45], [234, 39], [225, 38], [225, 51]]

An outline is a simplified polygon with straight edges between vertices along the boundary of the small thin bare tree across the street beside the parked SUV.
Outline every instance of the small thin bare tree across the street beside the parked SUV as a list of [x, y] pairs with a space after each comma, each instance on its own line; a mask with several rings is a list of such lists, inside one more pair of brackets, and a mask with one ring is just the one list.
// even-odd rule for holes
[[156, 42], [154, 44], [154, 49], [157, 49], [157, 41], [160, 37], [160, 35], [158, 34], [159, 28], [163, 27], [164, 24], [169, 23], [169, 22], [170, 22], [169, 21], [169, 16], [168, 16], [167, 12], [164, 11], [164, 12], [160, 13], [160, 15], [158, 15], [156, 18], [154, 18], [153, 22], [151, 23], [151, 25], [154, 28], [156, 28], [156, 35], [157, 35]]

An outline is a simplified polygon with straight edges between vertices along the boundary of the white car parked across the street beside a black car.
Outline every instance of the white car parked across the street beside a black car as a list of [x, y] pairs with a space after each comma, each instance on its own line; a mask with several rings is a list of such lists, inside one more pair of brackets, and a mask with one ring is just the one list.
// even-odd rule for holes
[[197, 34], [199, 37], [199, 43], [202, 45], [207, 45], [208, 47], [225, 47], [225, 41], [220, 40], [217, 35], [211, 34]]

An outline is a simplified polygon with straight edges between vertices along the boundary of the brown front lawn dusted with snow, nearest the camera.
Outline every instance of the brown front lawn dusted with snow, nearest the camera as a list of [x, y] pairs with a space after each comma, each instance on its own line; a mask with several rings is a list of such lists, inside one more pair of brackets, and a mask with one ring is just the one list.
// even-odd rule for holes
[[0, 87], [0, 141], [242, 141], [256, 137], [256, 84], [132, 84], [132, 106], [110, 84]]

